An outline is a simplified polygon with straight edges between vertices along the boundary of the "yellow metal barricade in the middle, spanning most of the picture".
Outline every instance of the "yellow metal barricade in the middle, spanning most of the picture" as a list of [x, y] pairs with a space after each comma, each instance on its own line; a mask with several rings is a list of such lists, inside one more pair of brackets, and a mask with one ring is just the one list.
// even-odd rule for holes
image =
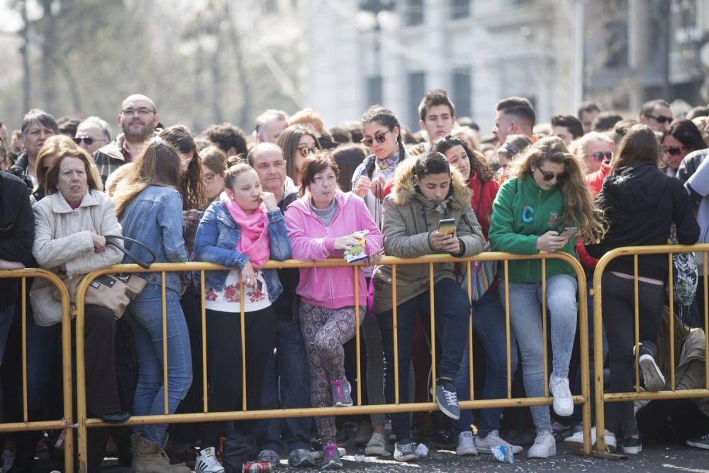
[[[435, 334], [435, 290], [433, 279], [433, 265], [442, 262], [459, 262], [467, 266], [467, 274], [470, 274], [471, 262], [482, 261], [501, 261], [507, 275], [508, 262], [510, 260], [542, 260], [542, 300], [546, 301], [546, 260], [564, 260], [569, 263], [576, 272], [576, 279], [579, 286], [579, 328], [581, 330], [581, 395], [573, 396], [574, 404], [583, 405], [583, 425], [584, 425], [584, 452], [591, 452], [591, 404], [588, 402], [590, 395], [590, 378], [588, 364], [588, 319], [587, 319], [587, 304], [586, 304], [586, 274], [576, 258], [566, 253], [549, 253], [540, 255], [511, 255], [503, 252], [486, 252], [468, 258], [456, 258], [448, 255], [427, 255], [424, 257], [403, 259], [396, 257], [383, 257], [379, 265], [391, 265], [392, 267], [392, 287], [393, 287], [393, 347], [394, 347], [394, 384], [398, 387], [398, 339], [397, 339], [397, 314], [396, 314], [396, 267], [398, 265], [429, 265], [429, 284], [430, 284], [430, 309], [431, 321], [430, 330]], [[359, 301], [359, 290], [357, 286], [358, 274], [362, 270], [362, 262], [354, 265], [349, 265], [341, 259], [330, 259], [321, 262], [301, 262], [297, 260], [286, 260], [283, 262], [269, 261], [263, 269], [284, 269], [284, 268], [307, 268], [307, 267], [337, 267], [349, 266], [354, 272], [354, 299], [355, 299], [355, 322], [359, 327], [360, 313], [359, 306], [365, 301]], [[79, 472], [86, 472], [86, 429], [98, 426], [106, 426], [108, 424], [101, 422], [98, 418], [86, 418], [86, 382], [84, 372], [84, 296], [89, 288], [91, 281], [102, 274], [114, 274], [119, 272], [135, 273], [135, 272], [160, 272], [162, 274], [162, 330], [166, 332], [166, 303], [165, 303], [165, 274], [167, 272], [199, 272], [201, 301], [205, 297], [204, 272], [213, 270], [233, 269], [226, 268], [220, 265], [205, 262], [189, 262], [189, 263], [157, 263], [150, 269], [143, 269], [138, 265], [116, 265], [87, 274], [77, 289], [77, 423], [78, 423], [78, 442], [79, 442]], [[505, 276], [505, 287], [509, 284], [507, 276]], [[468, 278], [467, 292], [471, 300], [471, 282]], [[243, 300], [244, 286], [240, 282], [240, 300]], [[520, 406], [539, 406], [551, 405], [552, 398], [549, 397], [548, 386], [545, 384], [545, 397], [539, 398], [513, 398], [512, 397], [512, 377], [510, 373], [510, 312], [509, 312], [509, 293], [506, 289], [505, 294], [506, 306], [506, 350], [507, 350], [507, 398], [506, 399], [474, 399], [474, 379], [473, 379], [473, 337], [472, 337], [472, 319], [469, 321], [469, 375], [470, 375], [470, 401], [459, 401], [461, 408], [491, 408], [491, 407], [520, 407]], [[546, 303], [542, 304], [542, 327], [544, 340], [547, 340], [547, 308]], [[391, 412], [413, 412], [413, 411], [435, 411], [437, 410], [437, 402], [435, 399], [435, 369], [436, 369], [436, 348], [435, 335], [431, 337], [431, 366], [432, 366], [432, 384], [433, 384], [433, 399], [431, 402], [411, 402], [400, 404], [398, 399], [398, 389], [394, 389], [395, 402], [394, 404], [379, 404], [379, 405], [362, 405], [361, 393], [361, 367], [360, 367], [360, 334], [359, 330], [354, 330], [355, 346], [356, 346], [356, 369], [357, 369], [357, 405], [350, 407], [320, 407], [320, 408], [291, 408], [291, 409], [271, 409], [259, 411], [247, 411], [246, 409], [246, 356], [245, 356], [245, 330], [244, 330], [244, 307], [241, 305], [241, 350], [242, 350], [242, 411], [231, 412], [209, 412], [208, 411], [208, 395], [207, 395], [207, 355], [206, 355], [206, 309], [204, 304], [201, 304], [201, 336], [202, 336], [202, 377], [203, 379], [203, 412], [200, 413], [167, 413], [167, 370], [163, 369], [163, 386], [164, 386], [164, 408], [165, 412], [154, 416], [133, 416], [128, 422], [122, 425], [138, 425], [152, 423], [187, 423], [199, 421], [227, 421], [240, 419], [255, 419], [255, 418], [286, 418], [286, 417], [305, 417], [305, 416], [335, 416], [335, 415], [352, 415], [365, 413], [391, 413]], [[545, 379], [548, 379], [547, 373], [547, 343], [544, 343], [545, 357]], [[163, 359], [167, 360], [167, 340], [163, 336]]]

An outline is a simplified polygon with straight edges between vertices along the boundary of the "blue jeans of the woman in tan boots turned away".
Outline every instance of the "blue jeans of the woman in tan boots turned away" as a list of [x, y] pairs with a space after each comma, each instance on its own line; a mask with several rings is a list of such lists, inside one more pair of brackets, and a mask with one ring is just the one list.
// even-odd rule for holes
[[[174, 413], [192, 383], [189, 333], [179, 294], [167, 289], [167, 412]], [[138, 385], [135, 386], [133, 414], [150, 416], [165, 413], [162, 383], [162, 297], [159, 284], [147, 284], [130, 303], [125, 318], [135, 337], [138, 357]], [[167, 424], [136, 425], [135, 433], [147, 440], [164, 443]]]

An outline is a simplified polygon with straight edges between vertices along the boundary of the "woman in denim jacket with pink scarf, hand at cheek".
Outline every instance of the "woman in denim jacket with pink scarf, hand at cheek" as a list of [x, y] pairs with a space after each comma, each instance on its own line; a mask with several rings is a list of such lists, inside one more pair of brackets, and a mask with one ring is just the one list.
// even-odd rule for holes
[[[228, 169], [225, 191], [211, 204], [197, 229], [196, 257], [231, 267], [205, 274], [207, 366], [213, 386], [209, 411], [238, 411], [242, 406], [241, 316], [244, 311], [247, 409], [261, 406], [267, 357], [273, 355], [276, 313], [272, 303], [283, 290], [276, 269], [260, 269], [269, 259], [287, 260], [291, 245], [283, 214], [270, 192], [262, 191], [258, 174], [241, 163]], [[243, 284], [243, 299], [240, 283]], [[241, 301], [245, 301], [242, 305]], [[198, 472], [220, 472], [215, 450], [225, 422], [201, 425]], [[256, 421], [242, 421], [234, 434], [249, 439]], [[228, 440], [226, 448], [230, 445]], [[230, 452], [225, 451], [225, 455]], [[249, 452], [236, 452], [242, 462]], [[235, 468], [239, 465], [231, 465]]]

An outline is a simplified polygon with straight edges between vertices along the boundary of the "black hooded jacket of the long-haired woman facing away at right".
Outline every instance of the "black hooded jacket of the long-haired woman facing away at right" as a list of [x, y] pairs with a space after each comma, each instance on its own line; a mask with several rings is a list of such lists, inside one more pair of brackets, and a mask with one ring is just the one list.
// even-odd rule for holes
[[[682, 183], [652, 164], [617, 169], [603, 182], [596, 204], [608, 221], [608, 233], [601, 243], [586, 245], [588, 254], [596, 258], [623, 246], [666, 245], [672, 223], [676, 223], [677, 240], [682, 245], [693, 245], [699, 238], [699, 226]], [[632, 257], [616, 258], [607, 269], [633, 274]], [[638, 257], [640, 276], [666, 281], [668, 269], [666, 255]]]

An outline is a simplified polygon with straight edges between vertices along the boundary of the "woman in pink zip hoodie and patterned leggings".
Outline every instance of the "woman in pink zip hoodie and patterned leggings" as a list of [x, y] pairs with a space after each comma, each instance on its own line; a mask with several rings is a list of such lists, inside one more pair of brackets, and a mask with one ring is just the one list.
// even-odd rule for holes
[[[381, 233], [358, 196], [337, 188], [337, 165], [330, 152], [306, 157], [301, 172], [301, 193], [288, 208], [286, 227], [293, 257], [301, 261], [342, 258], [359, 248], [366, 266], [379, 261]], [[342, 345], [354, 336], [354, 274], [351, 267], [301, 268], [296, 292], [301, 296], [300, 321], [311, 363], [313, 407], [352, 406], [350, 382], [345, 377]], [[362, 269], [357, 272], [359, 323], [367, 304]], [[406, 365], [408, 369], [408, 364]], [[335, 444], [335, 418], [316, 417], [323, 443], [323, 469], [341, 468]]]

